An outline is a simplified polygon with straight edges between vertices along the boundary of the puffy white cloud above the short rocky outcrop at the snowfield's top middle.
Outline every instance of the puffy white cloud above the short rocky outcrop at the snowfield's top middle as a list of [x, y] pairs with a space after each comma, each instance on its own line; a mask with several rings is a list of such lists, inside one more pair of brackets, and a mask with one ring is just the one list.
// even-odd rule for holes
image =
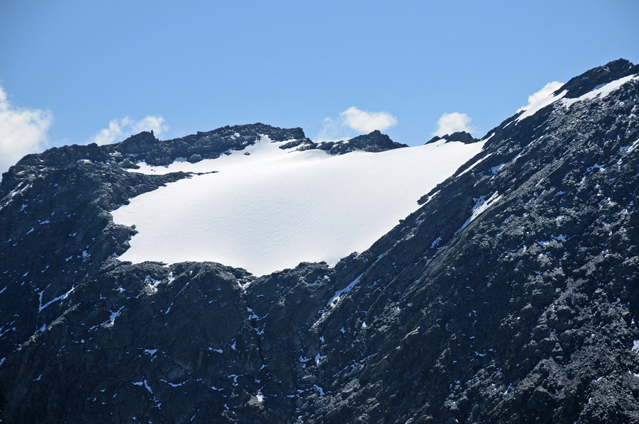
[[[397, 125], [397, 118], [388, 112], [367, 112], [351, 106], [339, 113], [339, 118], [324, 118], [324, 127], [317, 134], [317, 141], [346, 140], [357, 134], [368, 134], [374, 130], [386, 130]], [[353, 131], [354, 130], [354, 131]]]

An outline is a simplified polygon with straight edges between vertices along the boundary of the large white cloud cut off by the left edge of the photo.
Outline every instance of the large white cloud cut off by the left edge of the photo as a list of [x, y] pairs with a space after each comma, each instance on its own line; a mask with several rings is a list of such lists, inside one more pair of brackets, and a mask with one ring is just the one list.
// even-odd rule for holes
[[0, 86], [0, 174], [24, 155], [43, 150], [53, 113], [13, 106]]

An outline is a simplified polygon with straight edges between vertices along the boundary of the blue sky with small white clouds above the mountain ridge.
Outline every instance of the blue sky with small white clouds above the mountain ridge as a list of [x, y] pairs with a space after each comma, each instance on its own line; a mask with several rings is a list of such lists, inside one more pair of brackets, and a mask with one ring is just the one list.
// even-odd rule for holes
[[146, 128], [381, 126], [418, 145], [457, 113], [481, 136], [548, 82], [639, 62], [637, 16], [631, 0], [0, 0], [0, 172]]

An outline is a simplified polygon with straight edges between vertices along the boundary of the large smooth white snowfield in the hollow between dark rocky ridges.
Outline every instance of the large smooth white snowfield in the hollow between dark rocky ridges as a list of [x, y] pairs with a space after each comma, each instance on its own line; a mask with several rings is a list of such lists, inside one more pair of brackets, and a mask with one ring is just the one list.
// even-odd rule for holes
[[282, 150], [283, 143], [262, 138], [216, 160], [141, 164], [133, 171], [216, 172], [141, 194], [113, 211], [116, 223], [138, 230], [119, 259], [221, 262], [256, 275], [305, 261], [335, 264], [371, 247], [484, 146], [443, 142], [330, 156]]

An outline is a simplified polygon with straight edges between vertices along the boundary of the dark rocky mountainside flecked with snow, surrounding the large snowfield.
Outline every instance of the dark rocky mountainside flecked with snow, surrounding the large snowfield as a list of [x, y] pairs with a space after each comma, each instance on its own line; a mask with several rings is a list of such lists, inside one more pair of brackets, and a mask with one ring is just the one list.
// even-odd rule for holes
[[638, 422], [638, 114], [635, 79], [509, 118], [366, 252], [259, 278], [117, 260], [135, 229], [109, 211], [189, 177], [119, 164], [214, 157], [258, 134], [305, 148], [301, 130], [29, 155], [0, 184], [0, 417]]

